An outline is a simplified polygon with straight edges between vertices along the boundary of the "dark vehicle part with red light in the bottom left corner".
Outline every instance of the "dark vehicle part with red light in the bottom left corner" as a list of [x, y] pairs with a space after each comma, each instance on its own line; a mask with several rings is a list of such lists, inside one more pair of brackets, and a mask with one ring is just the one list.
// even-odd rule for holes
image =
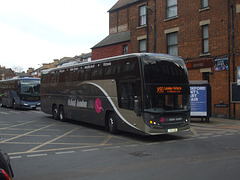
[[0, 150], [0, 180], [11, 180], [14, 177], [10, 158]]

